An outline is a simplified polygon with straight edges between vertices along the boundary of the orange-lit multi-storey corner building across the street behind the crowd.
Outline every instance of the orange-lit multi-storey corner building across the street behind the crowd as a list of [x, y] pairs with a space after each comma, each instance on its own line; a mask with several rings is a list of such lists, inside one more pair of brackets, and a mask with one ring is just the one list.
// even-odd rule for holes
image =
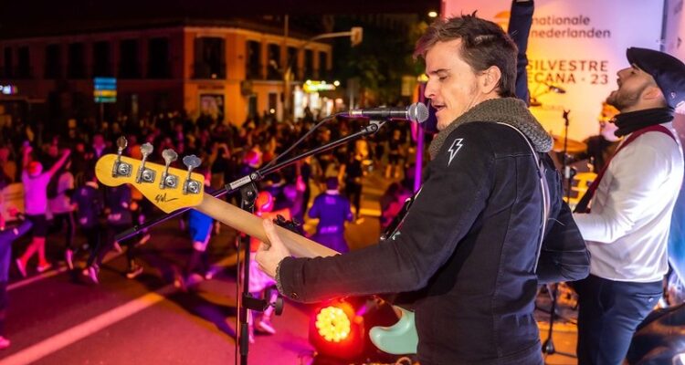
[[[0, 39], [0, 85], [45, 103], [49, 122], [172, 110], [237, 124], [257, 113], [282, 120], [283, 100], [302, 102], [283, 96], [287, 69], [289, 90], [330, 75], [332, 47], [309, 37], [232, 21]], [[115, 102], [95, 102], [94, 78], [116, 78]]]

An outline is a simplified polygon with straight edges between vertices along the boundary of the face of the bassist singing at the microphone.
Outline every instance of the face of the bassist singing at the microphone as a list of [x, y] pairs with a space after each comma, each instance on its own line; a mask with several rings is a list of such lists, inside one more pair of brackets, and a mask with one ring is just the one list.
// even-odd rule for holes
[[437, 44], [426, 53], [425, 96], [436, 108], [437, 130], [444, 130], [481, 100], [479, 75], [461, 57], [461, 39]]

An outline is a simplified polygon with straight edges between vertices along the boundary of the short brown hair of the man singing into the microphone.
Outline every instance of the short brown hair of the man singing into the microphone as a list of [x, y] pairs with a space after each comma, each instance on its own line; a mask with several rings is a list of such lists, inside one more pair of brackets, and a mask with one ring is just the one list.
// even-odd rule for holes
[[436, 20], [416, 41], [414, 57], [425, 58], [428, 50], [437, 42], [454, 39], [461, 39], [461, 57], [474, 72], [484, 71], [492, 66], [500, 68], [501, 78], [497, 85], [500, 97], [515, 96], [516, 45], [501, 26], [480, 19], [475, 12], [470, 16]]

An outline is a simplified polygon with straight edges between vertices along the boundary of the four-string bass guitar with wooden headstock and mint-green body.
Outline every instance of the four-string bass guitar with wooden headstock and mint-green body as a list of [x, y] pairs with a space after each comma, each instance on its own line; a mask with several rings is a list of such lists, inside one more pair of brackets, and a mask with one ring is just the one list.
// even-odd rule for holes
[[[183, 158], [184, 165], [187, 167], [184, 171], [170, 166], [178, 157], [173, 150], [162, 152], [165, 165], [161, 165], [146, 161], [153, 151], [153, 146], [149, 143], [141, 146], [141, 160], [121, 155], [121, 151], [126, 147], [126, 141], [122, 137], [117, 141], [117, 145], [119, 146], [118, 154], [104, 155], [95, 165], [95, 173], [100, 183], [107, 186], [129, 183], [164, 213], [192, 207], [239, 232], [256, 237], [262, 242], [269, 242], [262, 228], [261, 218], [205, 193], [204, 176], [193, 172], [201, 163], [195, 155]], [[278, 225], [276, 229], [290, 253], [297, 257], [339, 254]], [[369, 336], [378, 349], [387, 353], [416, 353], [418, 336], [414, 325], [414, 312], [399, 307], [394, 307], [394, 309], [395, 312], [400, 313], [399, 321], [389, 328], [371, 328]]]

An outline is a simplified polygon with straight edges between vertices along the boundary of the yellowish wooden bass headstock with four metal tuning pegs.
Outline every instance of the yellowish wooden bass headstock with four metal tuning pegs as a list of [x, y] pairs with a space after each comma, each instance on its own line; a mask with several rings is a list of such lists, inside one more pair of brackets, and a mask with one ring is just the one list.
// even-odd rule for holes
[[[125, 147], [125, 143], [122, 144]], [[205, 177], [192, 172], [200, 164], [200, 159], [195, 155], [184, 157], [184, 163], [188, 166], [188, 170], [184, 171], [169, 167], [176, 159], [176, 153], [172, 150], [163, 151], [166, 162], [163, 166], [145, 161], [152, 152], [152, 146], [148, 143], [141, 146], [142, 161], [121, 156], [123, 147], [120, 143], [119, 154], [106, 154], [96, 163], [95, 174], [100, 183], [107, 186], [130, 183], [164, 213], [202, 203]]]

